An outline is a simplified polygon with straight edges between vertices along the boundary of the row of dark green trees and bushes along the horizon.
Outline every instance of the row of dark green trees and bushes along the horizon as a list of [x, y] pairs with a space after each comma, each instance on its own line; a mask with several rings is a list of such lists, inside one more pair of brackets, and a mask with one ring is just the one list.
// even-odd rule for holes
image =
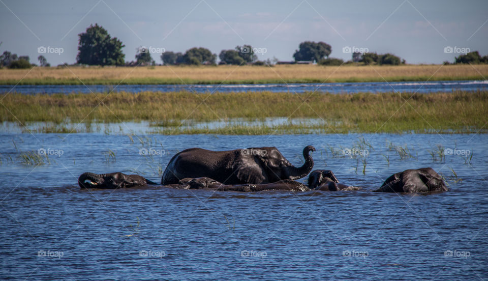
[[[78, 34], [78, 54], [76, 64], [98, 65], [98, 66], [145, 66], [156, 65], [151, 57], [150, 51], [139, 47], [135, 60], [125, 61], [125, 54], [122, 48], [125, 45], [116, 37], [111, 37], [106, 29], [98, 25], [90, 25], [84, 33]], [[405, 60], [392, 54], [378, 54], [376, 52], [353, 52], [352, 59], [344, 62], [342, 59], [330, 58], [332, 47], [325, 42], [304, 41], [293, 53], [294, 63], [310, 62], [319, 65], [343, 65], [343, 64], [364, 64], [364, 65], [401, 65]], [[218, 56], [219, 64], [229, 65], [269, 65], [277, 63], [277, 59], [259, 61], [255, 48], [251, 45], [236, 46], [234, 49], [222, 50]], [[203, 47], [194, 47], [185, 53], [163, 51], [161, 60], [164, 65], [216, 65], [217, 54]], [[38, 57], [40, 66], [50, 66], [43, 55]], [[478, 51], [469, 52], [455, 58], [454, 64], [488, 64], [488, 55], [481, 57]], [[450, 64], [444, 62], [444, 64]], [[34, 64], [29, 62], [29, 57], [17, 56], [9, 51], [0, 55], [0, 68], [31, 68]]]

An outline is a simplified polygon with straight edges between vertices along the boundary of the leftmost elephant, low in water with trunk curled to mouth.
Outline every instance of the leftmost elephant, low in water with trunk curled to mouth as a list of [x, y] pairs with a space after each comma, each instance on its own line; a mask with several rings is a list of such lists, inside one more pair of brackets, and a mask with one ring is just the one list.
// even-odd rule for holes
[[158, 184], [139, 175], [126, 175], [117, 172], [110, 174], [83, 173], [78, 178], [78, 185], [81, 188], [115, 189]]

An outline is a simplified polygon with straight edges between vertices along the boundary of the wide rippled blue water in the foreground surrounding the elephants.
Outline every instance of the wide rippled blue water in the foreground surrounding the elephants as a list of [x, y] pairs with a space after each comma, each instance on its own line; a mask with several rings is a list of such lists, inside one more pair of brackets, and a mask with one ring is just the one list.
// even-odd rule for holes
[[[0, 279], [488, 278], [485, 134], [131, 137], [0, 134]], [[121, 171], [160, 181], [171, 156], [190, 147], [276, 146], [301, 165], [307, 145], [317, 148], [315, 168], [363, 189], [238, 193], [77, 186], [83, 172]], [[438, 145], [447, 153], [442, 159]], [[49, 161], [23, 163], [19, 157], [27, 151], [47, 154]], [[441, 173], [450, 190], [371, 192], [393, 173], [424, 166]]]

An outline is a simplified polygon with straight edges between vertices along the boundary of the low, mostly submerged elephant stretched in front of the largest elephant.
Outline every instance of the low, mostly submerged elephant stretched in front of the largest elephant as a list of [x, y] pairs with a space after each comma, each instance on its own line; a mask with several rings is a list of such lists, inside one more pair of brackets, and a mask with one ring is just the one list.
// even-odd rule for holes
[[[185, 178], [179, 181], [179, 185], [184, 189], [212, 189], [216, 191], [241, 191], [241, 192], [253, 192], [253, 191], [265, 191], [265, 190], [287, 190], [287, 191], [308, 191], [310, 190], [307, 185], [293, 180], [281, 180], [273, 183], [265, 184], [223, 184], [214, 179], [208, 177], [200, 178]], [[168, 186], [168, 185], [166, 185]], [[174, 187], [174, 184], [170, 184], [169, 187]]]

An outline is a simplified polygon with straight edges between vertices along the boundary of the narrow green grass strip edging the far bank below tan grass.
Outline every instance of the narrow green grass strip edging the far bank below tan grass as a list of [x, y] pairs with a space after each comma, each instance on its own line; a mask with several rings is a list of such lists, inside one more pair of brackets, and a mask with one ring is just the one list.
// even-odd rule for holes
[[218, 84], [274, 84], [274, 83], [352, 83], [352, 82], [405, 82], [405, 81], [454, 81], [484, 80], [480, 75], [459, 75], [450, 77], [393, 76], [393, 77], [348, 77], [348, 78], [270, 78], [270, 79], [190, 79], [190, 78], [24, 78], [0, 80], [0, 85], [218, 85]]

